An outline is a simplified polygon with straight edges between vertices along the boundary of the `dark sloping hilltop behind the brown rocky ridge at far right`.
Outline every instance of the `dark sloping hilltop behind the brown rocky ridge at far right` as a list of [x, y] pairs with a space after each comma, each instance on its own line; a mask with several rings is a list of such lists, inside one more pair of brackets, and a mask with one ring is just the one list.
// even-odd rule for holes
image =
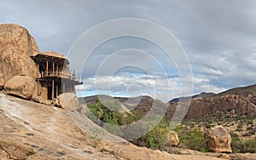
[[223, 96], [223, 95], [241, 95], [247, 96], [248, 94], [256, 94], [256, 84], [246, 86], [246, 87], [239, 87], [235, 89], [229, 89], [222, 93], [216, 94], [216, 96]]

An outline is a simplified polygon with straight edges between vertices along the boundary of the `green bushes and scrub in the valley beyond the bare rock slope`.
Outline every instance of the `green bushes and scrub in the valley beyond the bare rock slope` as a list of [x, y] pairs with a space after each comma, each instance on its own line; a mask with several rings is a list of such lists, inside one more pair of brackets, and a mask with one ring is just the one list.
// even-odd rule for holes
[[[102, 128], [107, 129], [109, 132], [123, 137], [126, 133], [120, 130], [118, 126], [136, 122], [143, 117], [143, 114], [138, 110], [133, 110], [130, 113], [119, 112], [122, 107], [116, 100], [104, 102], [103, 105], [99, 99], [96, 99], [95, 104], [89, 104], [88, 107], [90, 108], [91, 112], [86, 113], [87, 117], [90, 117], [91, 120], [102, 126]], [[232, 121], [227, 122], [227, 119]], [[154, 129], [137, 140], [131, 140], [131, 142], [137, 146], [147, 146], [152, 149], [170, 151], [170, 146], [166, 146], [166, 136], [171, 132], [170, 123], [171, 120], [164, 117], [160, 123], [154, 127]], [[235, 123], [237, 124], [235, 125]], [[194, 122], [184, 121], [182, 124], [177, 125], [176, 129], [174, 129], [177, 132], [180, 140], [177, 147], [206, 152], [207, 145], [204, 138], [204, 131], [205, 129], [209, 129], [215, 125], [224, 125], [227, 128], [236, 126], [236, 130], [231, 132], [231, 147], [233, 152], [256, 152], [255, 138], [254, 140], [241, 140], [241, 137], [237, 135], [243, 131], [244, 128], [247, 129], [247, 135], [241, 134], [241, 136], [248, 137], [255, 134], [254, 117], [247, 119], [240, 117], [214, 117], [205, 122], [201, 121], [200, 119], [197, 119]]]

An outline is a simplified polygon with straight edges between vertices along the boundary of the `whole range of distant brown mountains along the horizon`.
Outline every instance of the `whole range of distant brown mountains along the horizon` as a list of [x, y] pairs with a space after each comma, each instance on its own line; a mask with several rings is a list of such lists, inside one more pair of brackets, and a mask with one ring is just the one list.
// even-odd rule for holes
[[[95, 103], [96, 96], [89, 96], [80, 98], [80, 102], [87, 104]], [[102, 99], [112, 98], [108, 95], [100, 95]], [[125, 97], [113, 97], [115, 100], [125, 106], [128, 110], [140, 111], [143, 115], [146, 115], [151, 110], [154, 102], [157, 102], [158, 106], [168, 106], [166, 111], [167, 117], [172, 117], [174, 111], [177, 108], [177, 102], [179, 99], [170, 100], [167, 104], [154, 100], [150, 96], [138, 96], [132, 98]], [[188, 100], [189, 97], [182, 97], [181, 100]], [[256, 115], [256, 85], [247, 87], [241, 87], [236, 89], [229, 89], [220, 94], [206, 93], [195, 94], [192, 96], [192, 100], [189, 106], [189, 110], [185, 118], [197, 118], [207, 117], [215, 114], [222, 115], [247, 115], [249, 117]]]

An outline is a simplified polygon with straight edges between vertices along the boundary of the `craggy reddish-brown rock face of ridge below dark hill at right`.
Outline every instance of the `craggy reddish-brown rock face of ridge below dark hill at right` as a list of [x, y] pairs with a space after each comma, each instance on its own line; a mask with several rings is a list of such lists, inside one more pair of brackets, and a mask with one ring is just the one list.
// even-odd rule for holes
[[[177, 103], [169, 103], [166, 111], [167, 117], [172, 117]], [[192, 100], [186, 118], [206, 117], [207, 115], [224, 114], [230, 117], [234, 115], [256, 115], [256, 94], [223, 95], [219, 97], [201, 98]]]

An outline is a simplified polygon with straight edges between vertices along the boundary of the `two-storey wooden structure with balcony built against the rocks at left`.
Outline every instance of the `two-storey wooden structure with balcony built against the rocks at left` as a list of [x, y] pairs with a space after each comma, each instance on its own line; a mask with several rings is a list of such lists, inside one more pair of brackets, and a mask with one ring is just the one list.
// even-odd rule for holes
[[65, 92], [75, 92], [75, 85], [82, 84], [76, 80], [74, 71], [69, 71], [69, 62], [62, 54], [43, 52], [32, 56], [32, 60], [40, 72], [36, 80], [44, 100], [53, 100]]

